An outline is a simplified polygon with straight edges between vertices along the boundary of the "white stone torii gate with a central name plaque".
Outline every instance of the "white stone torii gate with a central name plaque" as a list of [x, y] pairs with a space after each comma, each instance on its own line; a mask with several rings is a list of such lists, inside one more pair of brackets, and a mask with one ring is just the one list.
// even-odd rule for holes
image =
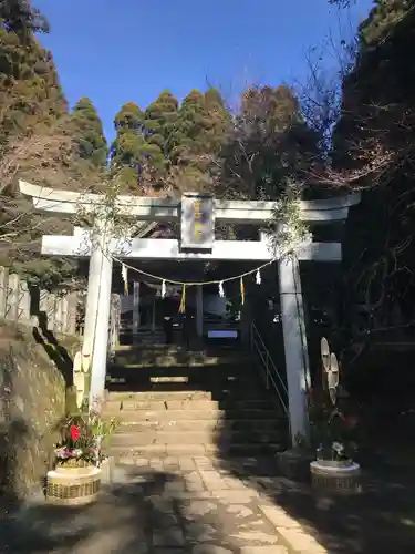
[[[76, 214], [80, 206], [87, 209], [104, 205], [104, 196], [97, 194], [58, 191], [20, 182], [20, 191], [33, 199], [33, 206], [50, 213]], [[196, 197], [196, 199], [195, 199]], [[199, 232], [197, 244], [186, 245], [186, 229], [195, 227], [195, 209], [200, 211], [200, 196], [187, 194], [180, 201], [175, 198], [149, 198], [120, 195], [116, 206], [120, 214], [143, 222], [181, 222], [181, 240], [129, 238], [116, 240], [107, 229], [95, 222], [94, 229], [77, 229], [73, 236], [43, 236], [42, 254], [48, 256], [90, 257], [87, 299], [84, 327], [84, 345], [91, 345], [91, 391], [90, 400], [102, 399], [105, 391], [108, 321], [112, 285], [113, 257], [123, 259], [200, 259], [200, 260], [249, 260], [264, 263], [278, 258], [269, 245], [269, 237], [261, 234], [258, 242], [215, 240], [214, 219], [228, 224], [251, 224], [261, 226], [272, 220], [274, 203], [262, 201], [210, 202], [210, 220], [206, 233]], [[349, 208], [359, 204], [360, 195], [342, 198], [301, 202], [301, 217], [311, 224], [344, 222]], [[191, 209], [194, 209], [191, 215]], [[189, 212], [190, 211], [190, 212]], [[196, 214], [197, 215], [197, 214]], [[190, 217], [189, 217], [190, 216]], [[193, 219], [191, 219], [193, 217]], [[208, 217], [209, 219], [209, 217]], [[196, 225], [198, 225], [196, 223]], [[188, 237], [187, 237], [188, 238]], [[190, 248], [189, 248], [190, 247]], [[307, 243], [298, 248], [297, 255], [279, 258], [278, 275], [281, 295], [281, 315], [284, 340], [289, 416], [291, 437], [307, 434], [307, 376], [308, 351], [303, 301], [300, 283], [299, 260], [341, 261], [340, 243]]]

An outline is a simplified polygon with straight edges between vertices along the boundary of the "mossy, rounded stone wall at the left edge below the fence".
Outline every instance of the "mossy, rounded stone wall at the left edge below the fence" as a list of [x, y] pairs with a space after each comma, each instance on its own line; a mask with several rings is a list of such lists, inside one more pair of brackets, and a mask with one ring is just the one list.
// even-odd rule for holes
[[22, 499], [49, 469], [71, 356], [21, 326], [0, 326], [0, 494]]

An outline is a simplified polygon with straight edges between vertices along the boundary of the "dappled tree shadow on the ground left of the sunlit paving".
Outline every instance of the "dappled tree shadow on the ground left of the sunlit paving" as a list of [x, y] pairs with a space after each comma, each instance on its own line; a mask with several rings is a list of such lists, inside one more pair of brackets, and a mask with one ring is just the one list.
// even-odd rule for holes
[[[0, 520], [0, 552], [13, 554], [239, 554], [206, 500], [180, 499], [181, 476], [136, 468], [77, 509], [33, 504]], [[166, 493], [166, 490], [169, 491]], [[177, 490], [177, 491], [176, 491]], [[195, 512], [196, 510], [196, 512]], [[217, 546], [215, 546], [217, 545]], [[222, 547], [222, 550], [219, 548]]]

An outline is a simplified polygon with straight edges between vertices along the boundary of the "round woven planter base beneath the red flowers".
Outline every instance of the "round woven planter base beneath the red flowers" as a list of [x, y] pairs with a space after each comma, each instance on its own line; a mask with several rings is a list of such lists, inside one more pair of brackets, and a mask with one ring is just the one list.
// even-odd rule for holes
[[85, 468], [56, 466], [48, 473], [46, 502], [60, 506], [91, 504], [101, 486], [101, 470], [94, 465]]

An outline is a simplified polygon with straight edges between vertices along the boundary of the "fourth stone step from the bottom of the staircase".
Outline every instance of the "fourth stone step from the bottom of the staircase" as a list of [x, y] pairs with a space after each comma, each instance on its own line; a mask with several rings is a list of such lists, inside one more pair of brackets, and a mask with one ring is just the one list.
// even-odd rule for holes
[[272, 409], [240, 408], [239, 410], [236, 409], [220, 410], [218, 408], [194, 410], [190, 408], [193, 408], [193, 403], [186, 410], [166, 410], [166, 407], [164, 404], [160, 410], [147, 410], [147, 409], [127, 410], [125, 409], [125, 406], [123, 410], [120, 410], [120, 406], [117, 404], [115, 409], [110, 409], [110, 410], [107, 406], [103, 412], [103, 416], [104, 418], [115, 417], [121, 421], [129, 423], [143, 423], [147, 421], [169, 422], [179, 420], [185, 420], [185, 421], [190, 420], [190, 421], [197, 421], [199, 424], [203, 424], [204, 421], [215, 423], [215, 422], [221, 422], [222, 420], [234, 420], [234, 421], [238, 420], [241, 422], [245, 422], [247, 420], [252, 420], [256, 421], [257, 424], [261, 425], [262, 420], [273, 420], [274, 418], [279, 418], [279, 420], [286, 419], [282, 409], [279, 407]]

